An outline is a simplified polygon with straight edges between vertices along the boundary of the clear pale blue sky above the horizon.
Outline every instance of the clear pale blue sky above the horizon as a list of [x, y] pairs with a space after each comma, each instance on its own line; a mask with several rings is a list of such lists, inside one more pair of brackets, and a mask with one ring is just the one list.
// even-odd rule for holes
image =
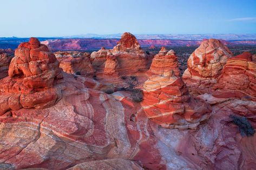
[[256, 0], [0, 0], [0, 37], [256, 33]]

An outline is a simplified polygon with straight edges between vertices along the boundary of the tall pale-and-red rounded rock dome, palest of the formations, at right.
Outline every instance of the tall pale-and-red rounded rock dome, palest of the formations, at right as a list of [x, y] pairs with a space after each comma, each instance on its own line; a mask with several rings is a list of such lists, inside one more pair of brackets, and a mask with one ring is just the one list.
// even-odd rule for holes
[[216, 79], [232, 53], [220, 40], [207, 39], [188, 58], [183, 80], [194, 94], [212, 92]]

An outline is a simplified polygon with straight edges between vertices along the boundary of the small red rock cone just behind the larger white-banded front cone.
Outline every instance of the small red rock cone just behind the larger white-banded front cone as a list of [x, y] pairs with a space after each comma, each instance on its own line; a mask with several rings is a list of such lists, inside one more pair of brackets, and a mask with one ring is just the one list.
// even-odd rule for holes
[[164, 72], [173, 70], [175, 76], [180, 77], [176, 53], [173, 50], [167, 52], [165, 47], [162, 47], [159, 53], [153, 58], [149, 70], [155, 74], [163, 74]]

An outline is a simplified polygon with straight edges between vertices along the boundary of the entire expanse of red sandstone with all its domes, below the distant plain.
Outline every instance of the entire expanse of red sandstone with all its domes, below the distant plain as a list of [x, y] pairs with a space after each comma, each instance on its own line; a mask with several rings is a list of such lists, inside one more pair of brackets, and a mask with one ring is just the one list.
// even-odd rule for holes
[[[124, 33], [110, 50], [0, 56], [0, 169], [254, 169], [256, 60], [201, 42], [183, 76]], [[8, 69], [9, 66], [9, 69]]]

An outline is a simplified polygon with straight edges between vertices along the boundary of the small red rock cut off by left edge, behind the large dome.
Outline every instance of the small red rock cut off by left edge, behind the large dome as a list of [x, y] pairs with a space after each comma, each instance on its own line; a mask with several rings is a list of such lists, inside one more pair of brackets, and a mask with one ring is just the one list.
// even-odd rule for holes
[[8, 76], [8, 68], [11, 57], [6, 53], [0, 53], [0, 79]]

